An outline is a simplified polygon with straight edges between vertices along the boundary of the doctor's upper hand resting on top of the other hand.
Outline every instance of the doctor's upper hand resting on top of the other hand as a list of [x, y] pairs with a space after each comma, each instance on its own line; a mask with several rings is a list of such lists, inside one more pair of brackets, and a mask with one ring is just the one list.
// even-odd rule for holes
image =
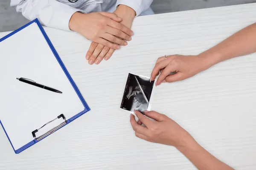
[[120, 21], [122, 18], [113, 13], [82, 14], [76, 12], [71, 17], [69, 25], [71, 30], [78, 32], [88, 40], [109, 48], [119, 49], [119, 45], [127, 45], [125, 40], [131, 40], [131, 35], [133, 35], [133, 31], [119, 23]]

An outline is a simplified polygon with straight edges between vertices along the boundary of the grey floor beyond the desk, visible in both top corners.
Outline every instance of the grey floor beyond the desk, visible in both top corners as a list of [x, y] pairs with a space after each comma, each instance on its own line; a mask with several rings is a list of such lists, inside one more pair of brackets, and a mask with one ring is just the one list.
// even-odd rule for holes
[[[256, 0], [154, 0], [151, 7], [159, 14], [255, 2]], [[15, 8], [10, 7], [10, 0], [0, 0], [0, 32], [15, 30], [27, 22]]]

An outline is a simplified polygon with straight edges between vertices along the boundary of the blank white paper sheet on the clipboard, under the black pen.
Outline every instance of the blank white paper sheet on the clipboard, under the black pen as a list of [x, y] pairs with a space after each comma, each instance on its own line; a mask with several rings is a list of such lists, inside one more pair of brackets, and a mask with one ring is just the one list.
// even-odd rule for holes
[[[20, 82], [17, 77], [63, 93]], [[0, 120], [15, 150], [34, 139], [32, 131], [60, 114], [69, 119], [84, 110], [36, 23], [0, 42], [0, 78]]]

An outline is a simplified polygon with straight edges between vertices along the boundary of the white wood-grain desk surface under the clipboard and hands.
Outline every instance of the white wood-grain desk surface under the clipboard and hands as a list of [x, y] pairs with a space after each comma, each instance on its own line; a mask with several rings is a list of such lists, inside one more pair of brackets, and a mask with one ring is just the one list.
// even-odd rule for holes
[[[90, 41], [45, 28], [91, 111], [18, 155], [0, 128], [0, 169], [195, 169], [174, 147], [134, 136], [129, 113], [119, 109], [127, 74], [149, 76], [157, 57], [198, 54], [254, 22], [256, 3], [138, 17], [129, 45], [93, 66], [85, 60]], [[256, 54], [251, 54], [160, 85], [152, 109], [170, 116], [227, 164], [255, 170], [255, 101]]]

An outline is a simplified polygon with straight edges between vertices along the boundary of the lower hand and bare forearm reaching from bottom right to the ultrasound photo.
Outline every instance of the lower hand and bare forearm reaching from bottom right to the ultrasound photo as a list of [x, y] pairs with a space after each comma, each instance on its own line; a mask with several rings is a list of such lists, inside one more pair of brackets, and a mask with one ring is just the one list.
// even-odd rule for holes
[[[135, 135], [149, 142], [171, 145], [185, 155], [198, 170], [233, 170], [232, 167], [212, 156], [180, 125], [169, 117], [155, 111], [144, 111], [148, 119], [139, 111], [134, 111], [139, 118], [136, 122], [131, 114], [130, 122]], [[145, 126], [143, 126], [144, 124]]]

